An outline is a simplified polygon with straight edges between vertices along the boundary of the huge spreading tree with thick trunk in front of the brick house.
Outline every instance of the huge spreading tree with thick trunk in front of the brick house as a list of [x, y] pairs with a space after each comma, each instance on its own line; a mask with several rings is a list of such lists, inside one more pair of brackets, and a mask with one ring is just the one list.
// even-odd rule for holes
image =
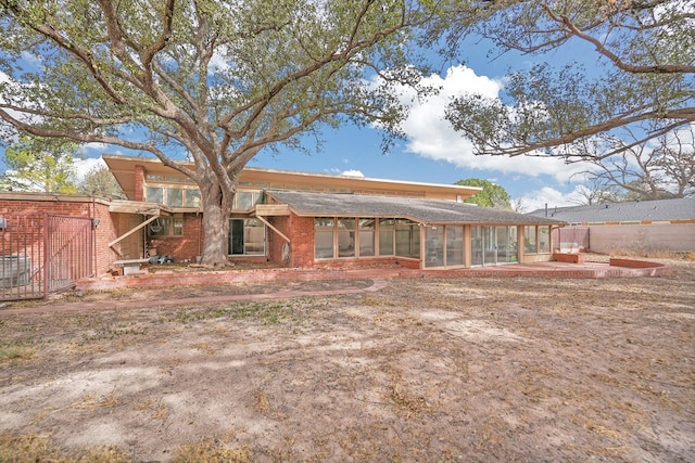
[[397, 131], [389, 90], [418, 81], [407, 34], [429, 3], [1, 0], [0, 118], [148, 152], [190, 177], [203, 262], [222, 265], [239, 175], [262, 149], [343, 119]]

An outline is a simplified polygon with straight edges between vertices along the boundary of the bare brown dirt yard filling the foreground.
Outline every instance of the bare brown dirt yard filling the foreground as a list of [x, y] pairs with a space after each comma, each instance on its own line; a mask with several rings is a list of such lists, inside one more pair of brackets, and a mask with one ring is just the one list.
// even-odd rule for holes
[[343, 280], [84, 295], [140, 301], [118, 310], [25, 304], [0, 310], [0, 436], [138, 462], [695, 461], [695, 262], [672, 265], [652, 279], [388, 280], [186, 303], [374, 283]]

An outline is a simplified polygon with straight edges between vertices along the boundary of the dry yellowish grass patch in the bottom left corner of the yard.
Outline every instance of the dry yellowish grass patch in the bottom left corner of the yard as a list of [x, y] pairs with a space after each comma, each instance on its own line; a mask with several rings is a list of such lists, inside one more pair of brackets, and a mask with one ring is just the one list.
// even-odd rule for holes
[[3, 462], [51, 462], [51, 463], [78, 463], [101, 462], [122, 463], [129, 462], [130, 458], [125, 451], [114, 447], [96, 447], [80, 450], [74, 454], [66, 454], [53, 445], [48, 436], [25, 434], [12, 436], [0, 435], [0, 461]]

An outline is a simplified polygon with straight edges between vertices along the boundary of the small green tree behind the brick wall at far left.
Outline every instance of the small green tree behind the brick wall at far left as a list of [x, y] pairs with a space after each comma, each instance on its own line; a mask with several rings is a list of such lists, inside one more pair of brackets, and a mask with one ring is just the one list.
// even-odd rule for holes
[[77, 193], [75, 158], [78, 145], [70, 140], [22, 136], [4, 150], [7, 171], [0, 184], [8, 190]]

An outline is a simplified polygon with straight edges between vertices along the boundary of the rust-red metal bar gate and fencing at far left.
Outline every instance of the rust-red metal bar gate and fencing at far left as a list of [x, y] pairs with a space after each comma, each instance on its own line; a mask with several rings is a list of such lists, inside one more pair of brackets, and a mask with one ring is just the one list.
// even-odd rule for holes
[[0, 300], [48, 298], [94, 275], [93, 221], [50, 214], [0, 217]]

